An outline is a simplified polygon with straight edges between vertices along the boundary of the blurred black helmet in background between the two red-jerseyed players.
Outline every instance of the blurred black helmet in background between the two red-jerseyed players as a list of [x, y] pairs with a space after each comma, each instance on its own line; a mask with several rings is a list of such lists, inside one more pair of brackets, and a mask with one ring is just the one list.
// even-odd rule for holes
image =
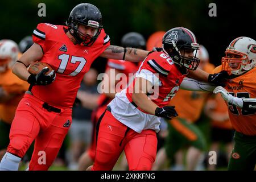
[[146, 41], [138, 32], [129, 32], [123, 35], [121, 39], [121, 46], [144, 49], [146, 46]]

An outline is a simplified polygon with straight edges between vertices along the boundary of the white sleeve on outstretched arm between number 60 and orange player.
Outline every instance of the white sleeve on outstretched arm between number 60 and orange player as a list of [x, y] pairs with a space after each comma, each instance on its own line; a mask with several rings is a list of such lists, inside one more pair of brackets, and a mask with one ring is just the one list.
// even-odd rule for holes
[[181, 82], [180, 88], [183, 90], [212, 92], [216, 85], [185, 77]]

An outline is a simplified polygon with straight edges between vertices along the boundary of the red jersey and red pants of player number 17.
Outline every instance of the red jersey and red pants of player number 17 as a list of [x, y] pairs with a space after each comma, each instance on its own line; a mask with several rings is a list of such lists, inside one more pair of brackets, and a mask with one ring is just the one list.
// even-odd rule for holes
[[[25, 94], [19, 102], [11, 125], [7, 148], [11, 154], [23, 158], [35, 140], [30, 170], [47, 170], [55, 160], [72, 123], [72, 105], [82, 77], [94, 59], [110, 45], [104, 30], [90, 47], [74, 45], [65, 30], [65, 26], [40, 23], [33, 32], [33, 41], [42, 47], [44, 53], [39, 61], [51, 65], [56, 80], [46, 86], [32, 86], [32, 95]], [[44, 109], [45, 103], [60, 109], [60, 112]], [[42, 151], [46, 163], [41, 164]]]

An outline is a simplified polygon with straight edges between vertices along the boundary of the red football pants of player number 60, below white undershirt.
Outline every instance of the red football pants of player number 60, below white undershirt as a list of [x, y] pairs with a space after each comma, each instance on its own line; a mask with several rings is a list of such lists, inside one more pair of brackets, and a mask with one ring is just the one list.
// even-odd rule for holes
[[151, 170], [157, 146], [154, 130], [143, 130], [142, 133], [127, 130], [127, 126], [115, 119], [108, 110], [99, 122], [100, 129], [92, 171], [112, 170], [123, 150], [129, 170]]

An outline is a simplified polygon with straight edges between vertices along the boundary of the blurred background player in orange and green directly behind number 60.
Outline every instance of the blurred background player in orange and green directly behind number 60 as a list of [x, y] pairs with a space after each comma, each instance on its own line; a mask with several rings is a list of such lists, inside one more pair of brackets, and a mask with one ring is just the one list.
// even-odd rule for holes
[[[200, 59], [199, 68], [211, 73], [214, 65], [209, 63], [209, 54], [204, 46], [200, 45], [197, 57]], [[166, 162], [167, 158], [170, 160], [174, 157], [176, 159], [174, 168], [189, 171], [195, 170], [200, 155], [207, 147], [204, 134], [196, 126], [196, 121], [200, 118], [208, 95], [209, 93], [206, 92], [179, 90], [176, 96], [170, 101], [168, 105], [175, 105], [175, 110], [179, 116], [167, 120], [168, 135], [164, 142], [164, 147], [156, 156], [153, 166], [154, 170], [158, 170]], [[185, 168], [183, 166], [183, 154], [177, 154], [178, 152], [183, 153], [184, 149], [188, 150], [186, 152]]]

